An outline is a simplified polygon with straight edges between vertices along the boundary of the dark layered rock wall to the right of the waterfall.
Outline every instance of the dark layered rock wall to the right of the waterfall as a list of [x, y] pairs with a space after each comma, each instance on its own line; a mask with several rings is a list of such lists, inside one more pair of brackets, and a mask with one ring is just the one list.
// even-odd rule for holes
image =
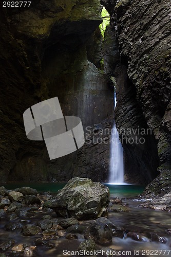
[[[150, 182], [160, 173], [147, 191], [161, 194], [171, 185], [170, 1], [101, 3], [111, 15], [110, 24], [120, 49], [120, 63], [113, 74], [117, 81], [116, 122], [125, 163], [139, 181]], [[138, 127], [145, 128], [145, 135], [135, 131]], [[145, 142], [128, 142], [136, 136]]]

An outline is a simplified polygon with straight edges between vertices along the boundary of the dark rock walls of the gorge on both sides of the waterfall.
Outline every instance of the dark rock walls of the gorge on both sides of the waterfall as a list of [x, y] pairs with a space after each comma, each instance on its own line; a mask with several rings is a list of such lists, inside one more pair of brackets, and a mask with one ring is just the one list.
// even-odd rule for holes
[[[110, 15], [104, 40], [103, 6]], [[116, 88], [124, 179], [150, 183], [146, 194], [168, 192], [169, 1], [36, 0], [31, 8], [1, 8], [0, 19], [2, 182], [107, 182]], [[64, 115], [82, 119], [86, 143], [50, 161], [43, 142], [27, 140], [23, 113], [56, 96]]]

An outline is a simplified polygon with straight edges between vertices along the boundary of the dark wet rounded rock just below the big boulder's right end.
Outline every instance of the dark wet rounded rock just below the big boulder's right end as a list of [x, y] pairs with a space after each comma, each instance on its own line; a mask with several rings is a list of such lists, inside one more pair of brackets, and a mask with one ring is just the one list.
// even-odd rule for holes
[[117, 227], [107, 218], [98, 218], [89, 227], [90, 235], [94, 241], [101, 245], [110, 244], [112, 236], [123, 236], [124, 229]]

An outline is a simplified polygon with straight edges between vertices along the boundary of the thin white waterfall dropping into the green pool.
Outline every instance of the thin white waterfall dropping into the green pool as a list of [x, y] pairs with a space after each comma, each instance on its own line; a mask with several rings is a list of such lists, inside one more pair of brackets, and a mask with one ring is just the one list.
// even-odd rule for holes
[[[114, 97], [114, 101], [115, 101], [115, 107], [116, 107], [116, 104], [117, 104], [116, 94]], [[109, 183], [111, 184], [124, 183], [123, 148], [119, 140], [119, 134], [118, 134], [115, 122], [111, 130]]]

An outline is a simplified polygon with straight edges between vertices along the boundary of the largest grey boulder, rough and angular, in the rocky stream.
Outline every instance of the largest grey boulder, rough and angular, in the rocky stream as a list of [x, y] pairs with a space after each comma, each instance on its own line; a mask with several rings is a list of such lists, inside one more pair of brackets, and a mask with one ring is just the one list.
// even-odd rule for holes
[[57, 215], [78, 219], [94, 219], [104, 215], [109, 204], [109, 189], [88, 178], [75, 177], [44, 206]]

